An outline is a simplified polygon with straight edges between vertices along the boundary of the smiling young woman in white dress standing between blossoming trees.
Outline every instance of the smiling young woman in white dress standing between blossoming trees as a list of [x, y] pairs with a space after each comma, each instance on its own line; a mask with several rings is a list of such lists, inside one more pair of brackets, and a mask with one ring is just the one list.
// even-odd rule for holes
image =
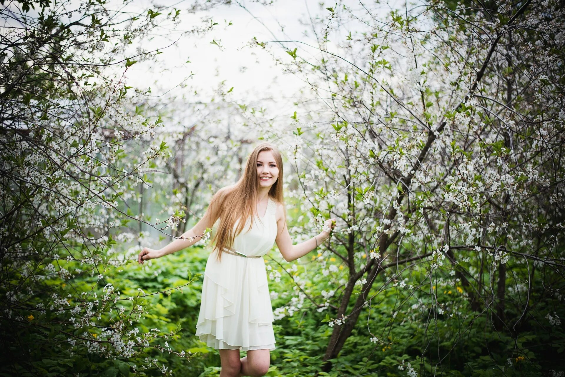
[[[320, 234], [293, 245], [286, 227], [281, 154], [262, 143], [247, 158], [239, 181], [212, 197], [202, 220], [162, 249], [144, 248], [138, 263], [189, 247], [206, 227], [212, 229], [214, 249], [206, 262], [196, 335], [219, 350], [220, 377], [263, 376], [276, 343], [263, 256], [276, 242], [286, 261], [302, 257], [329, 237], [334, 224], [335, 219], [326, 220]], [[247, 352], [241, 359], [240, 349]]]

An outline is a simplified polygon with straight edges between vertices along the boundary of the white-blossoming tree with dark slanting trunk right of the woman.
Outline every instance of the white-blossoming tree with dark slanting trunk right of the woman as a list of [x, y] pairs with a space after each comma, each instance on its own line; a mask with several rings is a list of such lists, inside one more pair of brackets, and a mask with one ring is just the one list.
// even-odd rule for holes
[[[321, 269], [293, 274], [295, 297], [278, 318], [308, 301], [328, 310], [326, 372], [354, 330], [385, 350], [399, 324], [419, 318], [421, 363], [407, 367], [433, 374], [473, 323], [512, 345], [532, 322], [554, 326], [564, 283], [559, 2], [325, 11], [310, 19], [318, 45], [255, 41], [314, 94], [297, 101], [284, 139], [297, 212], [341, 218]], [[329, 292], [308, 283], [327, 279]], [[392, 292], [386, 326], [371, 326], [371, 314], [360, 326]], [[533, 304], [542, 297], [547, 305]], [[457, 331], [437, 330], [450, 321]], [[496, 368], [533, 355], [520, 342], [490, 356]]]

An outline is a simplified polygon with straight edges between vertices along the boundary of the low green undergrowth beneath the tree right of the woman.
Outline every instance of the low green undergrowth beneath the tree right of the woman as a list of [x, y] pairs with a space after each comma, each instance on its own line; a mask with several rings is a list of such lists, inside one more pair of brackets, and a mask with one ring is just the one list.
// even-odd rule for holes
[[[277, 258], [276, 251], [272, 255], [273, 260]], [[277, 299], [272, 300], [273, 307], [288, 304], [287, 292], [295, 287], [294, 279], [307, 270], [319, 270], [320, 257], [321, 254], [313, 256], [313, 261], [302, 262], [292, 274], [284, 273], [292, 264], [279, 266], [280, 282], [269, 283], [270, 290], [278, 293]], [[329, 258], [328, 262], [331, 262]], [[276, 268], [277, 262], [270, 261], [269, 265]], [[519, 270], [514, 268], [516, 273]], [[336, 286], [332, 279], [322, 274], [317, 276], [307, 284], [315, 288], [310, 292], [319, 301], [322, 291]], [[406, 271], [402, 278], [407, 282], [420, 279], [418, 271]], [[542, 275], [536, 279], [543, 279]], [[520, 331], [516, 339], [488, 326], [487, 318], [470, 315], [466, 311], [468, 297], [460, 284], [441, 283], [432, 287], [428, 283], [420, 285], [416, 293], [399, 286], [383, 290], [385, 286], [385, 277], [374, 284], [368, 294], [372, 297], [372, 309], [360, 315], [353, 334], [332, 360], [332, 371], [320, 375], [406, 376], [408, 363], [421, 376], [494, 376], [502, 372], [516, 377], [544, 376], [544, 370], [559, 369], [558, 360], [565, 347], [565, 334], [560, 328], [547, 332], [541, 322], [529, 323], [516, 329]], [[541, 284], [533, 295], [538, 297], [540, 312], [553, 313], [557, 301], [550, 299]], [[434, 312], [434, 296], [449, 309], [442, 314]], [[518, 296], [519, 293], [511, 293], [508, 300]], [[565, 310], [562, 306], [558, 308], [556, 313], [563, 318]], [[282, 375], [314, 376], [321, 369], [321, 356], [332, 330], [327, 323], [334, 313], [331, 308], [318, 312], [316, 305], [304, 300], [298, 312], [275, 322], [277, 349], [271, 352], [272, 364]], [[385, 339], [371, 341], [367, 330], [378, 334], [381, 328], [389, 328]]]

